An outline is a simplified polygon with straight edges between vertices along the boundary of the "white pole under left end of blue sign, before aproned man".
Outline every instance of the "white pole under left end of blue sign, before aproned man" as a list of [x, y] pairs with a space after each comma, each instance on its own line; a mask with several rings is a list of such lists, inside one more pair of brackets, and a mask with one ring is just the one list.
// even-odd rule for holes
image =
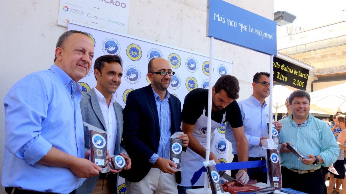
[[[206, 161], [209, 161], [210, 154], [210, 126], [211, 126], [211, 96], [213, 87], [213, 56], [214, 56], [214, 37], [210, 37], [210, 54], [209, 54], [209, 89], [208, 89], [208, 119], [207, 119], [207, 147]], [[208, 173], [204, 175], [204, 194], [207, 194], [208, 189]]]

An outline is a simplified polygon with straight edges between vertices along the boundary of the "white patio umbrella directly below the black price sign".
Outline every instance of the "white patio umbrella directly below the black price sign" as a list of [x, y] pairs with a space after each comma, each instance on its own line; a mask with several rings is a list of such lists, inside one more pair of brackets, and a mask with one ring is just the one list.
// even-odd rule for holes
[[273, 88], [273, 113], [275, 114], [275, 120], [277, 120], [277, 113], [286, 113], [286, 98], [294, 90], [291, 90], [285, 86], [275, 85]]

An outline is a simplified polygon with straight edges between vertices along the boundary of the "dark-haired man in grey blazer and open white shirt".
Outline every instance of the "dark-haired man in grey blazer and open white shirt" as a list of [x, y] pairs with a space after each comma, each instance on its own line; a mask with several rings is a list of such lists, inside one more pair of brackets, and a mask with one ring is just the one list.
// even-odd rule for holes
[[[96, 87], [82, 95], [80, 102], [83, 122], [107, 131], [107, 150], [109, 155], [122, 155], [127, 163], [126, 169], [131, 168], [131, 159], [124, 147], [120, 145], [123, 120], [122, 107], [115, 101], [116, 92], [122, 77], [122, 61], [119, 55], [104, 55], [95, 60], [94, 74]], [[84, 126], [85, 148], [90, 149], [89, 131]], [[90, 151], [86, 153], [89, 155]], [[121, 171], [121, 170], [120, 170]], [[81, 194], [113, 194], [117, 192], [118, 172], [100, 173], [98, 176], [87, 178], [77, 193]]]

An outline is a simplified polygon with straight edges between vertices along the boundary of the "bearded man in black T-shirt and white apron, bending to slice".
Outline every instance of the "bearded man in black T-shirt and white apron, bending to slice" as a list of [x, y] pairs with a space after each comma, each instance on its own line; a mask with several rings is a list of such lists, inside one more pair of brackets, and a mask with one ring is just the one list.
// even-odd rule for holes
[[[237, 104], [239, 97], [239, 83], [237, 78], [231, 75], [221, 76], [215, 86], [212, 87], [212, 116], [211, 116], [211, 144], [213, 145], [214, 130], [223, 123], [229, 121], [232, 126], [237, 146], [239, 147], [239, 161], [248, 160], [248, 144], [244, 133], [242, 115]], [[182, 110], [182, 130], [189, 136], [189, 146], [182, 153], [180, 168], [181, 183], [178, 184], [179, 194], [185, 194], [187, 189], [201, 188], [204, 184], [204, 173], [198, 181], [192, 185], [193, 174], [203, 166], [206, 157], [207, 141], [207, 107], [208, 89], [197, 88], [186, 95]], [[210, 159], [220, 163], [218, 158], [210, 152]], [[236, 179], [245, 184], [248, 181], [246, 169], [239, 170]]]

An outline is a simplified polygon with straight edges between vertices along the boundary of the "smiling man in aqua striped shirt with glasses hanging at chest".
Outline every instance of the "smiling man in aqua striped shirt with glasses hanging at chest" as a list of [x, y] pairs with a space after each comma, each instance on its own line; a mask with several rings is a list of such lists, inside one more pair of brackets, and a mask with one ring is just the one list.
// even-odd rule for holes
[[[309, 113], [309, 93], [294, 91], [289, 101], [292, 114], [280, 120], [283, 126], [279, 134], [283, 142], [280, 154], [282, 187], [305, 193], [326, 193], [320, 167], [328, 167], [337, 160], [339, 147], [327, 123]], [[305, 158], [299, 161], [286, 144], [297, 148]]]

